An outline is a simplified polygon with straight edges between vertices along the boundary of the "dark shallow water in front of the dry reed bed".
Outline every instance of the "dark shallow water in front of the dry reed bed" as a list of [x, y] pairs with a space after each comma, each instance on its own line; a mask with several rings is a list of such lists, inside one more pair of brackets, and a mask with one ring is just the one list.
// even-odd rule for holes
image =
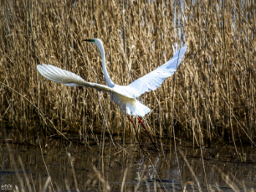
[[[110, 139], [105, 140], [102, 155], [100, 145], [89, 147], [72, 143], [65, 147], [63, 142], [56, 140], [54, 145], [45, 147], [41, 141], [41, 151], [33, 145], [2, 141], [1, 188], [11, 184], [12, 189], [17, 185], [25, 191], [34, 191], [34, 188], [42, 191], [44, 186], [46, 191], [53, 191], [53, 188], [54, 191], [76, 191], [76, 188], [80, 191], [121, 191], [124, 184], [124, 191], [154, 191], [156, 188], [157, 191], [182, 191], [182, 186], [198, 191], [199, 183], [206, 191], [206, 178], [214, 191], [217, 188], [236, 191], [243, 186], [247, 190], [256, 188], [256, 154], [251, 147], [243, 148], [246, 163], [236, 162], [233, 147], [204, 148], [204, 172], [200, 148], [193, 148], [189, 142], [176, 143], [178, 159], [170, 140], [159, 143], [162, 153], [154, 150], [150, 142], [143, 141], [148, 155], [143, 155], [138, 144], [133, 143], [134, 139], [127, 140], [124, 157], [121, 139], [114, 139], [114, 142], [116, 148]], [[179, 151], [184, 153], [189, 164]]]

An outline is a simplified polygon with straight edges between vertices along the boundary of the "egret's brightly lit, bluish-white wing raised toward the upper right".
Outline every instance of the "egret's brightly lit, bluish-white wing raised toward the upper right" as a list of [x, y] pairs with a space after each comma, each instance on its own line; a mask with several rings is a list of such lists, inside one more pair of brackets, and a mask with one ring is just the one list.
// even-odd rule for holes
[[[174, 48], [173, 50], [175, 51]], [[159, 66], [153, 72], [150, 72], [127, 85], [127, 90], [129, 90], [130, 94], [136, 98], [146, 91], [149, 92], [151, 90], [157, 89], [166, 77], [170, 77], [176, 71], [186, 51], [187, 45], [184, 45], [178, 51], [176, 47], [176, 53], [174, 53], [173, 58], [171, 58], [162, 66]]]

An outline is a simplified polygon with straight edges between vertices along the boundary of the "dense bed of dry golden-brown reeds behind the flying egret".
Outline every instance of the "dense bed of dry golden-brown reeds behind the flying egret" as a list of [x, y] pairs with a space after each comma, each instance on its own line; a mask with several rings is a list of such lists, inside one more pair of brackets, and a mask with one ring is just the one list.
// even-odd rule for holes
[[151, 131], [172, 135], [175, 125], [197, 144], [255, 139], [255, 3], [122, 2], [1, 1], [1, 121], [18, 130], [47, 130], [47, 123], [86, 134], [90, 125], [104, 123], [103, 110], [117, 133], [124, 115], [106, 94], [45, 80], [37, 64], [105, 84], [99, 50], [81, 42], [99, 38], [110, 77], [127, 85], [171, 58], [174, 43], [187, 42], [176, 76], [140, 98], [152, 109], [146, 116]]

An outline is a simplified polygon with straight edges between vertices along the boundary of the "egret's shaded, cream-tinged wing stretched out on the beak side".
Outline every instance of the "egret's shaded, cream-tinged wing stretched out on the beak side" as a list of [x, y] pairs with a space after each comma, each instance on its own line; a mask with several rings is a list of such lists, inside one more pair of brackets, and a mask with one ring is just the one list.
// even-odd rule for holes
[[85, 80], [83, 80], [82, 77], [78, 76], [77, 74], [68, 72], [64, 69], [60, 69], [56, 66], [46, 64], [37, 65], [37, 70], [42, 75], [42, 77], [45, 77], [46, 79], [52, 80], [54, 82], [64, 83], [65, 85], [70, 87], [84, 86], [89, 88], [96, 88], [97, 91], [118, 93], [122, 95], [122, 93], [113, 90], [113, 88], [110, 88], [106, 85], [99, 85], [93, 82], [86, 82]]

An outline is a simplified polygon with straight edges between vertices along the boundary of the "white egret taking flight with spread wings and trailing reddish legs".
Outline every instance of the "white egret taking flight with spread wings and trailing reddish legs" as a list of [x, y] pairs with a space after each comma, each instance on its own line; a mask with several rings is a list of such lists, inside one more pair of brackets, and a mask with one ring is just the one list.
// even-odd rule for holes
[[[140, 103], [136, 98], [138, 98], [141, 94], [149, 91], [156, 90], [159, 85], [165, 80], [165, 78], [170, 77], [177, 69], [178, 65], [181, 63], [181, 58], [183, 58], [184, 54], [187, 51], [187, 45], [178, 50], [178, 47], [173, 47], [173, 58], [167, 61], [162, 66], [159, 66], [154, 71], [140, 77], [138, 80], [135, 80], [129, 85], [121, 86], [116, 85], [108, 74], [107, 66], [105, 64], [105, 50], [100, 39], [84, 39], [83, 41], [91, 42], [94, 45], [97, 45], [99, 48], [99, 52], [102, 56], [102, 67], [105, 75], [105, 80], [107, 81], [108, 86], [100, 85], [93, 82], [86, 82], [77, 74], [72, 72], [68, 72], [64, 69], [59, 69], [56, 66], [52, 65], [37, 65], [37, 70], [43, 77], [48, 80], [52, 80], [54, 82], [64, 83], [67, 86], [84, 86], [95, 88], [97, 91], [103, 91], [110, 93], [110, 100], [114, 101], [120, 107], [121, 111], [124, 114], [135, 115], [140, 123], [142, 123], [143, 128], [146, 130], [148, 137], [150, 137], [151, 142], [154, 144], [151, 135], [148, 133], [146, 126], [140, 120], [140, 117], [144, 117], [151, 110], [144, 104]], [[129, 116], [127, 116], [129, 118]], [[129, 120], [132, 122], [131, 118]], [[132, 122], [132, 125], [135, 128], [135, 123]], [[135, 133], [137, 134], [136, 128]], [[138, 137], [138, 134], [137, 134]], [[140, 140], [138, 139], [140, 144]], [[140, 144], [141, 146], [141, 144]], [[156, 147], [156, 145], [154, 144]]]

